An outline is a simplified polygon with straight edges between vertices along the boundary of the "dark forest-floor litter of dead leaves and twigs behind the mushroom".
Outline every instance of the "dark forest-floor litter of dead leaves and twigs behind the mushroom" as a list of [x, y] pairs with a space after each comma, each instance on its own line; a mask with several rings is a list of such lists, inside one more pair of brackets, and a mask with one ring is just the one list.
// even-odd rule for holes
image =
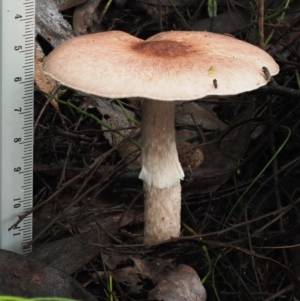
[[95, 31], [147, 38], [208, 30], [257, 45], [264, 39], [281, 72], [252, 93], [178, 103], [178, 140], [204, 160], [185, 164], [181, 237], [150, 246], [141, 243], [139, 102], [95, 102], [63, 87], [50, 101], [41, 90], [55, 93], [54, 85], [37, 72], [34, 251], [28, 258], [2, 251], [1, 292], [204, 301], [199, 276], [207, 300], [299, 299], [300, 2], [36, 2], [37, 43], [46, 54]]

